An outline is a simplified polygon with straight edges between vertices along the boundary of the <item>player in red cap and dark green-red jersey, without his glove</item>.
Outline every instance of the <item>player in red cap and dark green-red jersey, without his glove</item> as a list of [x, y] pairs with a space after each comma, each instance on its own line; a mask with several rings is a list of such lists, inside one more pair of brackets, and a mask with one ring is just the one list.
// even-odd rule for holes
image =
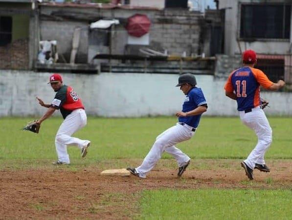
[[55, 110], [60, 110], [65, 119], [61, 124], [55, 139], [58, 160], [53, 164], [69, 164], [69, 155], [67, 154], [67, 145], [75, 145], [81, 149], [82, 157], [85, 157], [90, 146], [89, 140], [81, 140], [71, 135], [83, 128], [87, 123], [87, 116], [82, 104], [81, 98], [76, 94], [73, 88], [63, 85], [62, 77], [59, 74], [50, 76], [48, 84], [56, 93], [51, 104], [45, 104], [42, 99], [37, 97], [40, 105], [48, 108], [44, 116], [37, 123], [41, 124], [50, 117]]

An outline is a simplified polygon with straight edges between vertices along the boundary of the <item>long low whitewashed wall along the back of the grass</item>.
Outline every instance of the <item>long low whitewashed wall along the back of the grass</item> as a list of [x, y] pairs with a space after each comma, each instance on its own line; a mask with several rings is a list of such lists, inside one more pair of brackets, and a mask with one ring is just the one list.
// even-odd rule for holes
[[[64, 73], [64, 83], [82, 97], [90, 115], [105, 117], [139, 117], [173, 115], [181, 110], [184, 99], [175, 87], [177, 74], [102, 73], [99, 75]], [[50, 73], [0, 70], [0, 116], [41, 115], [35, 97], [50, 103], [55, 95], [46, 84]], [[237, 115], [236, 102], [225, 97], [225, 80], [196, 75], [198, 87], [208, 102], [206, 115]], [[263, 92], [270, 101], [268, 114], [292, 115], [292, 95], [283, 92]], [[60, 114], [55, 113], [55, 115]]]

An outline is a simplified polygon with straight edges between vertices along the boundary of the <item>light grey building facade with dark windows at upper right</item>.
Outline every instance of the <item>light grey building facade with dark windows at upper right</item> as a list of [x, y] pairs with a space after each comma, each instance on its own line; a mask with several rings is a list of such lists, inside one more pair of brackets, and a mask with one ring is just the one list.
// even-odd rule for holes
[[273, 81], [291, 84], [292, 1], [219, 0], [219, 10], [225, 12], [224, 54], [253, 49], [258, 54], [256, 67]]

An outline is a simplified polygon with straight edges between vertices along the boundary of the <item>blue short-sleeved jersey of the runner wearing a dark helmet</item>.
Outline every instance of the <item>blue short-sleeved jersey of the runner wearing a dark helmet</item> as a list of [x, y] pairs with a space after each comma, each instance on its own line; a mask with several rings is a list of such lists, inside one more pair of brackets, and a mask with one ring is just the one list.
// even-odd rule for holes
[[[206, 105], [206, 99], [201, 88], [194, 87], [185, 96], [182, 105], [182, 112], [188, 112], [197, 109], [199, 106]], [[179, 117], [179, 122], [183, 122], [193, 128], [197, 128], [201, 119], [201, 115], [193, 115], [187, 117]]]

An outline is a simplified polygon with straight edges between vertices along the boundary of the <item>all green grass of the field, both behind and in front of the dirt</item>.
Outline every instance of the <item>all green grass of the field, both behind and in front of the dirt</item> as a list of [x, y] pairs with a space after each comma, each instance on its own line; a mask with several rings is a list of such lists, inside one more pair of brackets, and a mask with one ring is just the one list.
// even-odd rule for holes
[[[30, 120], [32, 118], [0, 118], [3, 125], [0, 128], [0, 170], [26, 170], [32, 167], [55, 169], [51, 165], [57, 159], [54, 138], [62, 119], [53, 117], [46, 120], [39, 134], [21, 131]], [[74, 134], [92, 142], [89, 154], [82, 159], [79, 149], [68, 147], [71, 165], [63, 170], [76, 172], [95, 164], [103, 168], [102, 164], [107, 167], [109, 161], [117, 167], [130, 165], [129, 161], [138, 163], [148, 153], [156, 136], [175, 125], [176, 120], [175, 117], [89, 117], [88, 125]], [[269, 117], [269, 121], [273, 130], [273, 143], [266, 159], [292, 160], [292, 118]], [[196, 169], [205, 169], [202, 161], [206, 159], [213, 159], [215, 163], [220, 161], [218, 159], [240, 162], [247, 157], [256, 142], [253, 131], [245, 127], [238, 117], [202, 117], [194, 137], [180, 143], [178, 147], [193, 159]], [[167, 168], [176, 169], [170, 158], [167, 154], [162, 157], [165, 161], [170, 161]], [[201, 162], [196, 163], [197, 160]], [[192, 168], [194, 169], [194, 165], [190, 167]], [[245, 190], [158, 189], [142, 191], [137, 198], [138, 214], [130, 215], [130, 219], [284, 220], [291, 219], [292, 216], [292, 187], [282, 189], [279, 186], [274, 190], [254, 189], [252, 185]]]

